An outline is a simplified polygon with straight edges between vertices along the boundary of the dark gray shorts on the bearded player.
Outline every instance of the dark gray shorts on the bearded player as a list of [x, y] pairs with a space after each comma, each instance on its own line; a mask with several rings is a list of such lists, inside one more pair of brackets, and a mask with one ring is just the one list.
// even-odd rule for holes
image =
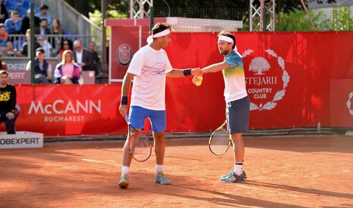
[[227, 118], [227, 128], [229, 133], [249, 132], [249, 111], [249, 96], [226, 104], [225, 116]]

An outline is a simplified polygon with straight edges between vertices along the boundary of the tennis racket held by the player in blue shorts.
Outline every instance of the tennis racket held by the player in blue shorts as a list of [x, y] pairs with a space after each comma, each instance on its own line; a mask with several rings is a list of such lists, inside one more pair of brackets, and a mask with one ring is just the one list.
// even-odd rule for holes
[[[133, 159], [136, 161], [146, 161], [152, 154], [152, 145], [150, 140], [143, 133], [140, 133], [136, 128], [131, 126], [128, 116], [124, 116], [126, 123], [128, 124], [128, 152], [131, 154]], [[131, 128], [135, 130], [131, 133]]]

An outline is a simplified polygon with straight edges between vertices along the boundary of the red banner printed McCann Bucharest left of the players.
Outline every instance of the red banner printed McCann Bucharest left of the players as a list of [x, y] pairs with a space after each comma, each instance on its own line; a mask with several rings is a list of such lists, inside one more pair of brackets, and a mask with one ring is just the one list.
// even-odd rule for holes
[[124, 133], [125, 121], [118, 113], [120, 89], [120, 85], [17, 86], [16, 130], [46, 136]]

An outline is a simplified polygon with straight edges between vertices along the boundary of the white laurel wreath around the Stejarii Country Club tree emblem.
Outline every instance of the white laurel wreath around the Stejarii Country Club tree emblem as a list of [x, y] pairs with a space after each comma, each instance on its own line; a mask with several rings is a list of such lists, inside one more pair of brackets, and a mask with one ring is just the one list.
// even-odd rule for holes
[[[285, 70], [285, 60], [281, 57], [281, 56], [277, 56], [277, 54], [275, 53], [275, 51], [273, 51], [272, 49], [266, 49], [265, 50], [268, 54], [270, 54], [271, 56], [277, 58], [277, 63], [280, 66], [280, 68], [282, 68], [282, 81], [283, 81], [283, 87], [282, 90], [279, 90], [275, 93], [275, 96], [273, 96], [273, 100], [270, 102], [267, 102], [265, 104], [254, 104], [252, 102], [250, 102], [250, 110], [270, 110], [270, 109], [274, 109], [275, 106], [277, 105], [276, 101], [279, 101], [280, 99], [282, 99], [285, 96], [285, 92], [286, 92], [286, 87], [288, 86], [289, 83], [289, 74], [287, 73], [287, 71]], [[253, 50], [251, 49], [247, 49], [246, 51], [244, 51], [244, 53], [242, 54], [243, 58], [246, 56], [249, 56], [249, 54], [251, 54], [253, 52]], [[351, 92], [351, 95], [353, 96], [353, 92]], [[352, 98], [352, 96], [350, 96], [350, 98]], [[353, 110], [350, 110], [350, 98], [349, 98], [349, 112], [351, 112], [351, 114], [353, 115]], [[348, 105], [348, 102], [347, 102]]]

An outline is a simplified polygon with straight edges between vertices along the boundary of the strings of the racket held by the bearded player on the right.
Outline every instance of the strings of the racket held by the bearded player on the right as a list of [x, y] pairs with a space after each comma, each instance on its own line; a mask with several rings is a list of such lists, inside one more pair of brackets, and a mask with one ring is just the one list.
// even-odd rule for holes
[[210, 149], [215, 154], [224, 154], [229, 147], [229, 133], [224, 128], [215, 130], [210, 140]]

